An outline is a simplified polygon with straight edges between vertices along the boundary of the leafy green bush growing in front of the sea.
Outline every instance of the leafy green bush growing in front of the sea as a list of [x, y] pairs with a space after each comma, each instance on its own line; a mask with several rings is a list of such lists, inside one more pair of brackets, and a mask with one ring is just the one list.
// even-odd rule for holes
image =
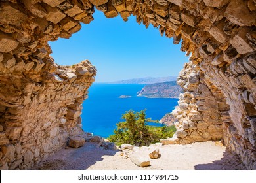
[[146, 118], [145, 110], [134, 112], [129, 110], [123, 114], [124, 122], [119, 122], [114, 135], [108, 138], [117, 145], [133, 144], [136, 146], [149, 146], [150, 144], [160, 142], [160, 139], [172, 137], [175, 133], [175, 127], [154, 127], [146, 125], [146, 122], [154, 122], [151, 118]]

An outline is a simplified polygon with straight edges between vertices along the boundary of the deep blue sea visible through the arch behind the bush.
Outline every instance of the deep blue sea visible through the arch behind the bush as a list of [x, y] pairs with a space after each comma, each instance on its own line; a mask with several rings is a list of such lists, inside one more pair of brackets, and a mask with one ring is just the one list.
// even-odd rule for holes
[[[81, 114], [83, 130], [108, 137], [113, 134], [121, 116], [128, 110], [146, 109], [146, 117], [160, 120], [177, 105], [178, 99], [137, 97], [142, 84], [93, 84], [89, 98], [83, 102]], [[119, 98], [129, 95], [129, 98]], [[161, 125], [149, 123], [148, 125]]]

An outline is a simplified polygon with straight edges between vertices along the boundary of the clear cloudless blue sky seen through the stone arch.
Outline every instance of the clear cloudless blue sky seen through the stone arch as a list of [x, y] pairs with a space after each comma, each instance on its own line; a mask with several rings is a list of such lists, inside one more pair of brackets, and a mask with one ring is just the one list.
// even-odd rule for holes
[[188, 61], [181, 44], [161, 37], [152, 25], [146, 29], [134, 16], [124, 22], [120, 16], [106, 18], [95, 9], [95, 20], [82, 24], [70, 39], [49, 42], [59, 65], [73, 65], [89, 59], [98, 70], [96, 82], [177, 76]]

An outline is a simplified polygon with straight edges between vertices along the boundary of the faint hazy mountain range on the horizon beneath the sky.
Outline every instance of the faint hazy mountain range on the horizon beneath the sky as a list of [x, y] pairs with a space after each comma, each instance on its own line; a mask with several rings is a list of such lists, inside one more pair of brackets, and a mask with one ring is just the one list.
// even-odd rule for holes
[[167, 82], [167, 81], [174, 81], [177, 80], [176, 76], [169, 76], [169, 77], [160, 77], [160, 78], [135, 78], [129, 80], [119, 80], [116, 82], [110, 82], [112, 84], [153, 84], [158, 82]]

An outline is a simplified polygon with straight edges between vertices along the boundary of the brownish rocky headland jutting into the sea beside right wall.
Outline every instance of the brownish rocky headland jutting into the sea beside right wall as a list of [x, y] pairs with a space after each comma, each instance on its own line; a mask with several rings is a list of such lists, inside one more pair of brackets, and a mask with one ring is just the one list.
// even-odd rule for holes
[[144, 97], [169, 97], [178, 98], [182, 92], [181, 86], [176, 81], [147, 84], [141, 91], [137, 92], [138, 96]]

